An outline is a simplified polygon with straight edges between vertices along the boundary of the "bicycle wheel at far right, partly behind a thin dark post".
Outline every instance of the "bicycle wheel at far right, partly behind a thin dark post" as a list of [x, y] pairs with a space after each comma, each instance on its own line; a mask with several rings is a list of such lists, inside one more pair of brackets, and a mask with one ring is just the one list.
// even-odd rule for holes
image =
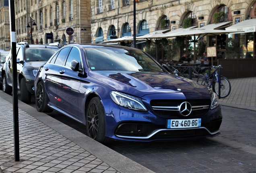
[[[213, 84], [213, 91], [219, 96], [219, 83], [215, 80]], [[221, 98], [227, 97], [231, 92], [231, 84], [229, 80], [221, 76]]]

